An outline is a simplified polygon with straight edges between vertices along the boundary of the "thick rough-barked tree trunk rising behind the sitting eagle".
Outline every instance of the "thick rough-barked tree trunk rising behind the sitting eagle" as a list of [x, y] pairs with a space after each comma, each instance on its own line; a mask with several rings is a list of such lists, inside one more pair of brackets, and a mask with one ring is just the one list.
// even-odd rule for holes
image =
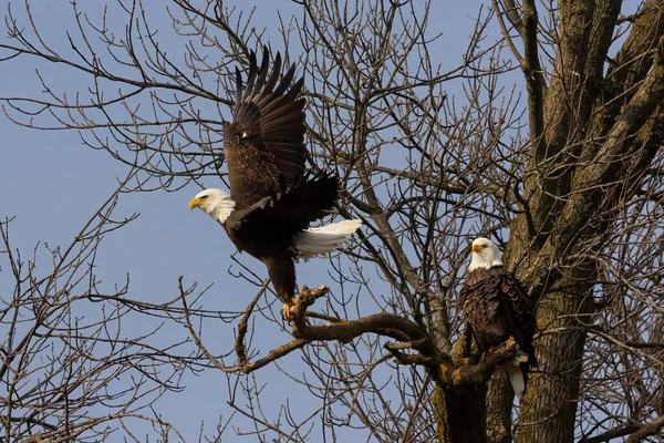
[[[561, 2], [562, 40], [546, 95], [541, 142], [525, 181], [525, 214], [511, 225], [505, 254], [539, 301], [542, 336], [538, 373], [522, 399], [517, 442], [573, 442], [582, 357], [591, 320], [596, 268], [588, 257], [602, 247], [621, 202], [661, 148], [664, 1], [646, 1], [602, 76], [620, 1]], [[533, 124], [531, 123], [531, 127]], [[615, 177], [622, 177], [620, 184]], [[575, 257], [575, 258], [574, 258]], [[581, 257], [581, 258], [580, 258]], [[563, 289], [564, 288], [564, 289]], [[507, 429], [506, 383], [488, 394], [489, 427]], [[504, 432], [497, 442], [508, 442]]]

